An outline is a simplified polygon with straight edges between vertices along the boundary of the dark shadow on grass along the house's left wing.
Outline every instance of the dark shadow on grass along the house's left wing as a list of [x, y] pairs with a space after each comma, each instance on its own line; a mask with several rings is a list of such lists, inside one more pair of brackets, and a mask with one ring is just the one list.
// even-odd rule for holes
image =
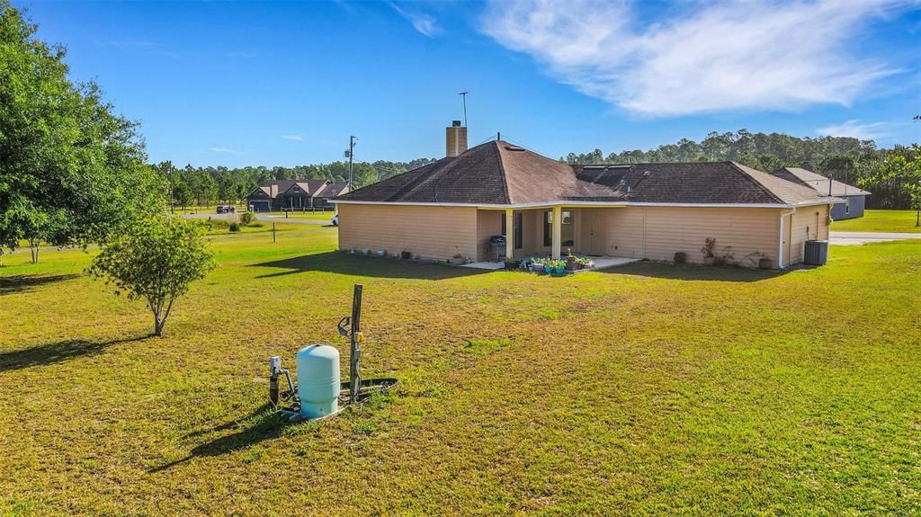
[[341, 251], [273, 260], [271, 262], [262, 262], [261, 264], [252, 264], [252, 267], [284, 270], [265, 273], [256, 278], [273, 278], [307, 271], [325, 271], [342, 275], [376, 278], [444, 280], [489, 272], [488, 270], [458, 268], [432, 262], [349, 255]]

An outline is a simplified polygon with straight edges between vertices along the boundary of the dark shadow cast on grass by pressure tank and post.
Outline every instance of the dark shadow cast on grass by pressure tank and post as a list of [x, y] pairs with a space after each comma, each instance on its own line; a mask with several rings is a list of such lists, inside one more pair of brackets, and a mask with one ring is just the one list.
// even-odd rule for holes
[[254, 409], [246, 417], [230, 420], [212, 429], [193, 431], [186, 434], [186, 438], [194, 438], [213, 432], [237, 429], [237, 431], [227, 434], [226, 436], [221, 436], [211, 442], [204, 442], [195, 446], [192, 448], [192, 451], [182, 459], [151, 468], [148, 472], [154, 473], [167, 470], [200, 456], [219, 456], [248, 449], [259, 442], [278, 438], [287, 425], [290, 425], [288, 421], [279, 417], [278, 412], [275, 411], [272, 405], [266, 402], [259, 408]]

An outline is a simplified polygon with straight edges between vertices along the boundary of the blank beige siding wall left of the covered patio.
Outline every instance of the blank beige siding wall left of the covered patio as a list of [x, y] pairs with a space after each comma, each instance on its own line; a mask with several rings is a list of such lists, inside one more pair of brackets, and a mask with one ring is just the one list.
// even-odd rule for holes
[[403, 249], [424, 259], [477, 257], [475, 208], [340, 204], [340, 249]]

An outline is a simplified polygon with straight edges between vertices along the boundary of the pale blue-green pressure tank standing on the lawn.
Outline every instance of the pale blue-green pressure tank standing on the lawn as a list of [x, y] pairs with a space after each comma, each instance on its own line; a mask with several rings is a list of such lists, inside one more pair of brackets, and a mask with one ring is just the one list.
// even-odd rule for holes
[[319, 419], [339, 408], [339, 350], [326, 344], [297, 351], [297, 396], [300, 414]]

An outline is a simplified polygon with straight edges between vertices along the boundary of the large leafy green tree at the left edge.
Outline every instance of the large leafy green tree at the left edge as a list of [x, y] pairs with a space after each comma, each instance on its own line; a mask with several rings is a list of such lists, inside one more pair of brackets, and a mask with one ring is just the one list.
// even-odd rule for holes
[[0, 0], [0, 247], [104, 238], [138, 211], [162, 208], [136, 125], [99, 86], [75, 84], [60, 45]]

